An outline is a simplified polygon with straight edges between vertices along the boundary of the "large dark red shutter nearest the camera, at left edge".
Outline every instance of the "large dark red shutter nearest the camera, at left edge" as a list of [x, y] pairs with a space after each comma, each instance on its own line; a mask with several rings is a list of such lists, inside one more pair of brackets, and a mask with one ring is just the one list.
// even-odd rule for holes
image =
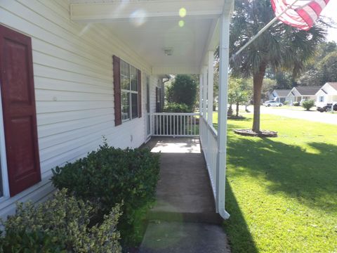
[[41, 181], [32, 42], [0, 25], [0, 84], [11, 196]]

